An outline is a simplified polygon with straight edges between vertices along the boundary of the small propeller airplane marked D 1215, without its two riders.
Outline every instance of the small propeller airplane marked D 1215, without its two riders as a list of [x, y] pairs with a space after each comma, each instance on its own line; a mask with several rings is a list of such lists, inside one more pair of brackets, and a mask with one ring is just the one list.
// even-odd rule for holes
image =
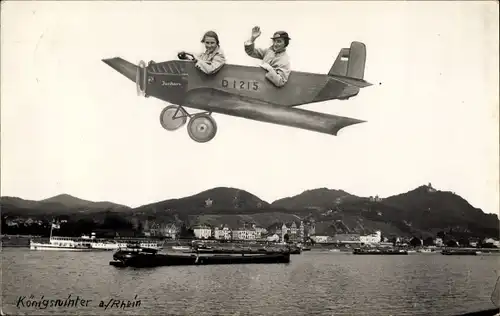
[[[206, 143], [217, 133], [212, 113], [284, 125], [336, 136], [344, 127], [365, 121], [330, 115], [297, 106], [347, 100], [360, 88], [372, 84], [364, 80], [366, 46], [352, 42], [342, 48], [327, 74], [292, 71], [283, 87], [276, 87], [260, 67], [225, 64], [217, 73], [206, 75], [195, 68], [192, 56], [179, 53], [179, 60], [148, 65], [132, 64], [121, 57], [102, 59], [104, 63], [134, 81], [137, 94], [169, 103], [160, 114], [161, 126], [175, 131], [189, 118], [187, 131], [192, 140]], [[190, 114], [186, 108], [202, 110]]]

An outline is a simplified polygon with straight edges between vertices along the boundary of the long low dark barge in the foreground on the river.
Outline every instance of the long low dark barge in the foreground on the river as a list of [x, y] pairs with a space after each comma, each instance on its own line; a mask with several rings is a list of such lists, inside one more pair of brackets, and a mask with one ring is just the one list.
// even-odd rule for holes
[[150, 268], [161, 266], [276, 264], [289, 263], [290, 252], [266, 254], [160, 254], [157, 249], [127, 248], [113, 254], [115, 267]]

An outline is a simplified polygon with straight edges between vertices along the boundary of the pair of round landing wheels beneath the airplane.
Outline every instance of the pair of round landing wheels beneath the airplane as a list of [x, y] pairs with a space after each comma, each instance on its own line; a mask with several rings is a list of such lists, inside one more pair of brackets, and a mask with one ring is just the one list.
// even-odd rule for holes
[[206, 143], [217, 134], [217, 124], [211, 112], [189, 114], [182, 106], [169, 105], [160, 114], [160, 124], [168, 131], [175, 131], [187, 122], [189, 137], [198, 143]]

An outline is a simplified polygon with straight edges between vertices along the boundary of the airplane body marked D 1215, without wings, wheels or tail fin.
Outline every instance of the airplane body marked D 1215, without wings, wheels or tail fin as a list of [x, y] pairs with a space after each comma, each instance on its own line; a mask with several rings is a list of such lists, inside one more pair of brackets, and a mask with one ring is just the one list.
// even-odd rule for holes
[[[328, 75], [292, 72], [284, 87], [276, 87], [260, 67], [226, 64], [218, 73], [206, 75], [190, 61], [173, 60], [147, 67], [145, 93], [166, 102], [199, 108], [198, 95], [204, 102], [223, 101], [265, 103], [282, 107], [332, 99], [345, 99], [359, 93], [359, 88]], [[215, 98], [215, 99], [214, 99]], [[212, 100], [214, 99], [214, 100]]]

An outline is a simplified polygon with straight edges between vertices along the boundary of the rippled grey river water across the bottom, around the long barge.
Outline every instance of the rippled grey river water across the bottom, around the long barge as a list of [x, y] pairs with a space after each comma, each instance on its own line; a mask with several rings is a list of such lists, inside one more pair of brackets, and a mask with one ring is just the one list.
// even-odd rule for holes
[[[287, 265], [153, 269], [118, 269], [109, 265], [111, 256], [112, 252], [3, 248], [3, 312], [451, 316], [493, 308], [490, 297], [500, 272], [498, 255], [356, 256], [310, 251], [293, 255]], [[64, 302], [69, 295], [78, 297], [77, 307], [50, 307], [47, 301]], [[43, 307], [44, 300], [47, 308], [30, 306], [41, 301]]]

